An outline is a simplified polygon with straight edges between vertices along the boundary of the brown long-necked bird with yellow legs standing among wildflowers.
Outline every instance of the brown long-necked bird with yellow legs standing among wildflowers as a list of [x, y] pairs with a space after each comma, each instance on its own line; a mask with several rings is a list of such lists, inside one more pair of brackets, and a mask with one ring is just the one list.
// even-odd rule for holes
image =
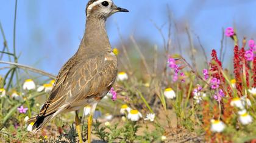
[[105, 24], [117, 12], [129, 10], [117, 7], [112, 0], [90, 0], [85, 10], [84, 36], [77, 52], [63, 65], [38, 115], [27, 121], [32, 131], [40, 130], [60, 113], [75, 111], [75, 124], [82, 141], [79, 110], [90, 105], [87, 141], [91, 142], [93, 113], [99, 101], [108, 93], [118, 73], [117, 58], [111, 48]]

